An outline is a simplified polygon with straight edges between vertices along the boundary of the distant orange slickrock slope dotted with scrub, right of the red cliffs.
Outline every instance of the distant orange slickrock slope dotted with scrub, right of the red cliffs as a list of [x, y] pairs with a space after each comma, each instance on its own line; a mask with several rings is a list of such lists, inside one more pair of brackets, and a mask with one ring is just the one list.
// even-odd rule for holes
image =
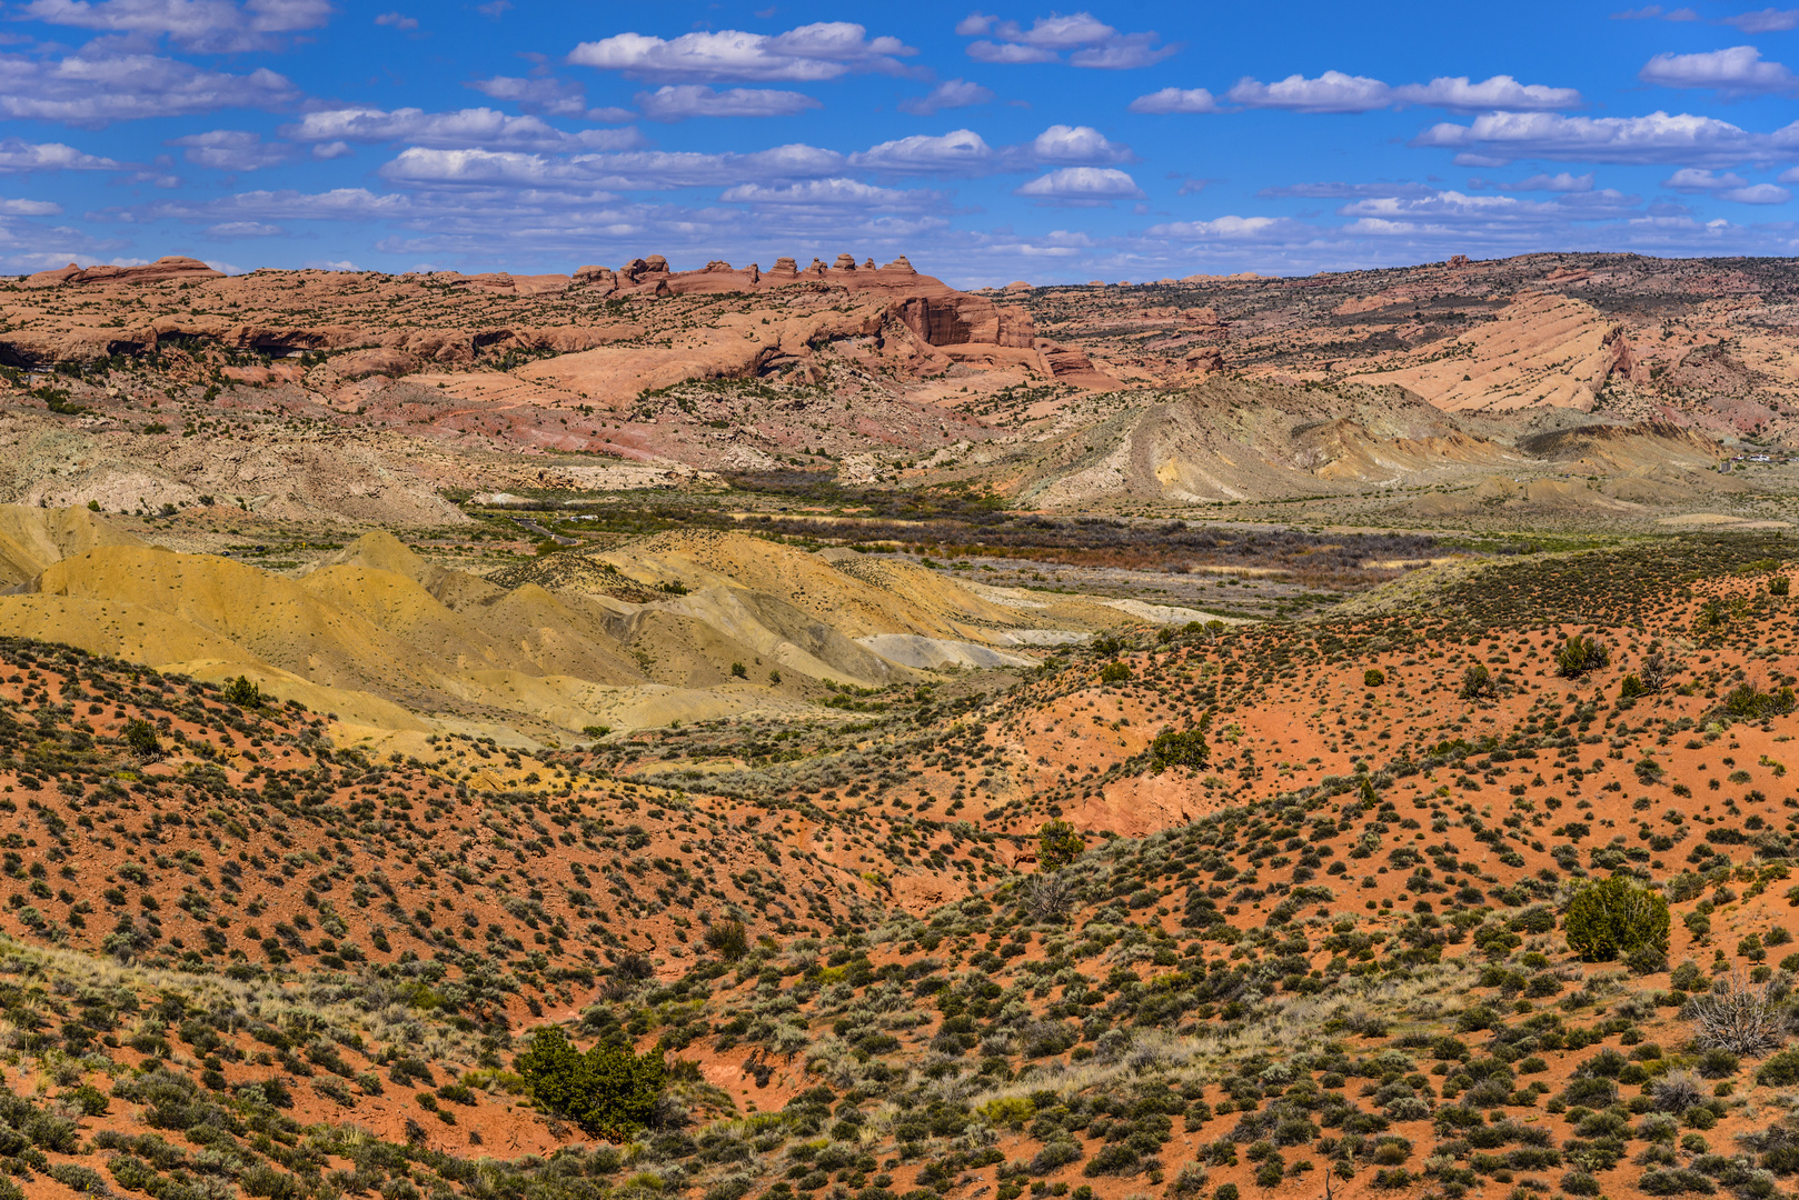
[[1400, 383], [1455, 412], [1562, 407], [1716, 435], [1792, 428], [1795, 295], [1790, 259], [1533, 254], [1306, 279], [1036, 288], [1025, 304], [1040, 333], [1083, 345], [1130, 381], [1349, 376]]

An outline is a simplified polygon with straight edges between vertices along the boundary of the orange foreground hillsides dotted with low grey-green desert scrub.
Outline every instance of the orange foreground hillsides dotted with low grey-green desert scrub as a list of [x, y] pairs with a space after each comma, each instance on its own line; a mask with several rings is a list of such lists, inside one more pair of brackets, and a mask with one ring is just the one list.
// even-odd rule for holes
[[[185, 1187], [228, 1177], [248, 1195], [322, 1198], [367, 1187], [399, 1200], [414, 1187], [928, 1200], [968, 1196], [964, 1175], [991, 1168], [1006, 1200], [1058, 1187], [1223, 1198], [1326, 1178], [1452, 1196], [1768, 1195], [1781, 1175], [1765, 1173], [1790, 1171], [1795, 1142], [1768, 1101], [1799, 1079], [1786, 1047], [1799, 957], [1781, 950], [1788, 723], [1781, 712], [1732, 716], [1720, 702], [1752, 671], [1768, 680], [1761, 691], [1790, 684], [1756, 644], [1767, 628], [1750, 621], [1754, 599], [1731, 622], [1693, 628], [1729, 583], [1720, 563], [1738, 554], [1722, 540], [1671, 540], [1626, 554], [1648, 581], [1614, 578], [1605, 556], [1545, 556], [1488, 567], [1479, 587], [1457, 583], [1412, 610], [1108, 635], [1058, 651], [1060, 666], [1020, 673], [1002, 694], [975, 700], [970, 685], [950, 698], [946, 684], [880, 712], [846, 709], [831, 732], [754, 727], [738, 738], [757, 747], [748, 772], [678, 777], [680, 793], [610, 781], [588, 801], [561, 781], [482, 792], [461, 766], [444, 783], [336, 752], [329, 779], [288, 772], [272, 754], [246, 783], [243, 768], [178, 750], [194, 761], [178, 786], [131, 792], [139, 781], [117, 775], [130, 770], [122, 757], [106, 757], [99, 738], [81, 745], [67, 720], [81, 712], [56, 712], [88, 703], [88, 691], [110, 702], [108, 687], [130, 700], [126, 676], [81, 662], [83, 693], [65, 700], [49, 671], [67, 678], [68, 667], [34, 649], [25, 669], [45, 685], [41, 698], [34, 676], [29, 693], [23, 680], [9, 685], [9, 696], [29, 694], [7, 709], [18, 729], [9, 752], [49, 786], [7, 793], [14, 808], [0, 810], [27, 822], [20, 840], [40, 842], [0, 847], [18, 855], [0, 858], [11, 880], [0, 891], [20, 896], [7, 914], [20, 914], [20, 937], [52, 945], [41, 954], [81, 959], [74, 946], [117, 937], [81, 970], [146, 982], [126, 1007], [94, 1002], [74, 966], [43, 979], [0, 972], [22, 979], [18, 995], [0, 993], [0, 1052], [54, 1079], [47, 1096], [68, 1121], [95, 1121], [85, 1115], [95, 1101], [110, 1105], [106, 1121], [131, 1139], [101, 1148], [119, 1159], [119, 1187], [155, 1169]], [[1648, 604], [1642, 630], [1608, 622], [1628, 615], [1616, 597], [1632, 588]], [[1662, 637], [1691, 675], [1628, 707], [1608, 703], [1599, 680], [1574, 687], [1554, 673], [1576, 628], [1610, 642], [1639, 678], [1642, 648]], [[1108, 662], [1132, 676], [1099, 685]], [[1374, 696], [1356, 687], [1369, 662], [1387, 671]], [[1499, 696], [1463, 700], [1472, 667]], [[137, 685], [157, 693], [157, 718], [171, 718], [158, 734], [171, 748], [218, 745], [221, 723], [239, 745], [259, 738], [259, 752], [306, 752], [299, 714], [232, 712], [175, 682]], [[851, 705], [894, 698], [847, 693]], [[1401, 700], [1434, 720], [1394, 720]], [[1333, 757], [1320, 752], [1319, 770], [1304, 770], [1258, 741], [1258, 705], [1293, 705], [1292, 720]], [[52, 709], [49, 723], [40, 709]], [[1160, 730], [1207, 711], [1209, 759], [1193, 779], [1204, 820], [1132, 838], [1083, 828], [1078, 801], [1115, 797], [1112, 784], [1151, 770]], [[1079, 725], [1088, 736], [1047, 763], [1007, 750], [1042, 712], [1061, 718], [1058, 732]], [[631, 745], [673, 768], [682, 747], [720, 748], [732, 736], [689, 727]], [[452, 745], [468, 766], [506, 759], [489, 743]], [[1076, 756], [1087, 761], [1065, 770]], [[52, 775], [54, 763], [79, 772]], [[104, 790], [108, 779], [122, 795]], [[81, 784], [81, 806], [58, 799], [65, 783]], [[178, 808], [189, 793], [194, 804]], [[261, 842], [295, 844], [252, 846], [209, 808]], [[176, 811], [182, 824], [166, 819]], [[1079, 844], [1065, 865], [1040, 853], [1029, 871], [1029, 831], [1045, 820], [1063, 820]], [[473, 831], [466, 858], [450, 849], [461, 829]], [[81, 914], [56, 900], [59, 871], [97, 855], [101, 837], [140, 853], [94, 880], [95, 912]], [[304, 856], [318, 849], [331, 856]], [[944, 900], [901, 912], [874, 882], [901, 869], [932, 874]], [[471, 896], [502, 871], [506, 894], [471, 927]], [[1583, 961], [1594, 923], [1581, 896], [1605, 887], [1666, 901], [1678, 966], [1633, 955], [1616, 930], [1610, 961]], [[279, 900], [304, 891], [318, 903], [293, 912]], [[23, 932], [25, 907], [45, 932]], [[234, 919], [225, 948], [201, 948], [196, 930], [221, 927], [194, 909]], [[68, 916], [97, 918], [99, 936], [54, 945], [52, 923], [79, 932]], [[333, 918], [342, 930], [326, 925]], [[687, 925], [669, 921], [651, 946], [635, 928], [651, 918]], [[732, 921], [745, 927], [741, 954], [734, 937], [709, 937]], [[1709, 1007], [1736, 1002], [1738, 986], [1718, 982], [1731, 968], [1759, 997], [1772, 1042], [1702, 1038]], [[157, 970], [166, 975], [148, 973]], [[549, 1027], [583, 1061], [649, 1051], [667, 1063], [628, 1141], [473, 1171], [434, 1166], [426, 1155], [439, 1146], [459, 1162], [506, 1153], [489, 1135], [491, 1123], [506, 1128], [506, 1105], [515, 1119], [568, 1121], [574, 1137], [574, 1106], [545, 1097], [541, 1110], [518, 1108], [531, 1096], [520, 1058]], [[63, 1081], [63, 1058], [94, 1070]], [[700, 1061], [705, 1078], [725, 1072], [729, 1092], [691, 1078]], [[252, 1119], [293, 1141], [268, 1132], [281, 1148], [272, 1159]], [[360, 1121], [403, 1130], [405, 1144], [336, 1133]], [[236, 1141], [189, 1139], [214, 1128]], [[471, 1150], [471, 1132], [488, 1146]], [[243, 1146], [257, 1155], [248, 1166], [230, 1159], [237, 1166], [214, 1171], [219, 1159], [201, 1159]], [[92, 1184], [74, 1168], [108, 1177], [104, 1155], [45, 1155], [61, 1171], [50, 1178], [68, 1186]], [[333, 1177], [336, 1159], [356, 1164], [347, 1180]]]

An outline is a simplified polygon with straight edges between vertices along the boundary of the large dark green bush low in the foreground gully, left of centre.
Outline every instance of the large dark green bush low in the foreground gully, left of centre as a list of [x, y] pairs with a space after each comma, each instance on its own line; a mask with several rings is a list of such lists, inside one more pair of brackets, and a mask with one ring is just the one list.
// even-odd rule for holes
[[657, 1051], [595, 1045], [583, 1054], [554, 1025], [533, 1033], [513, 1067], [543, 1110], [612, 1142], [628, 1141], [649, 1123], [667, 1079]]

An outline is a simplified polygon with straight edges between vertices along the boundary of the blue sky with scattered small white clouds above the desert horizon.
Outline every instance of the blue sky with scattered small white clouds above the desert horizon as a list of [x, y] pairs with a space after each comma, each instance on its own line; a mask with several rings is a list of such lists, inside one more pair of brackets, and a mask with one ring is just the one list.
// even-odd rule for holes
[[1777, 7], [11, 0], [0, 270], [1795, 254], [1795, 101]]

